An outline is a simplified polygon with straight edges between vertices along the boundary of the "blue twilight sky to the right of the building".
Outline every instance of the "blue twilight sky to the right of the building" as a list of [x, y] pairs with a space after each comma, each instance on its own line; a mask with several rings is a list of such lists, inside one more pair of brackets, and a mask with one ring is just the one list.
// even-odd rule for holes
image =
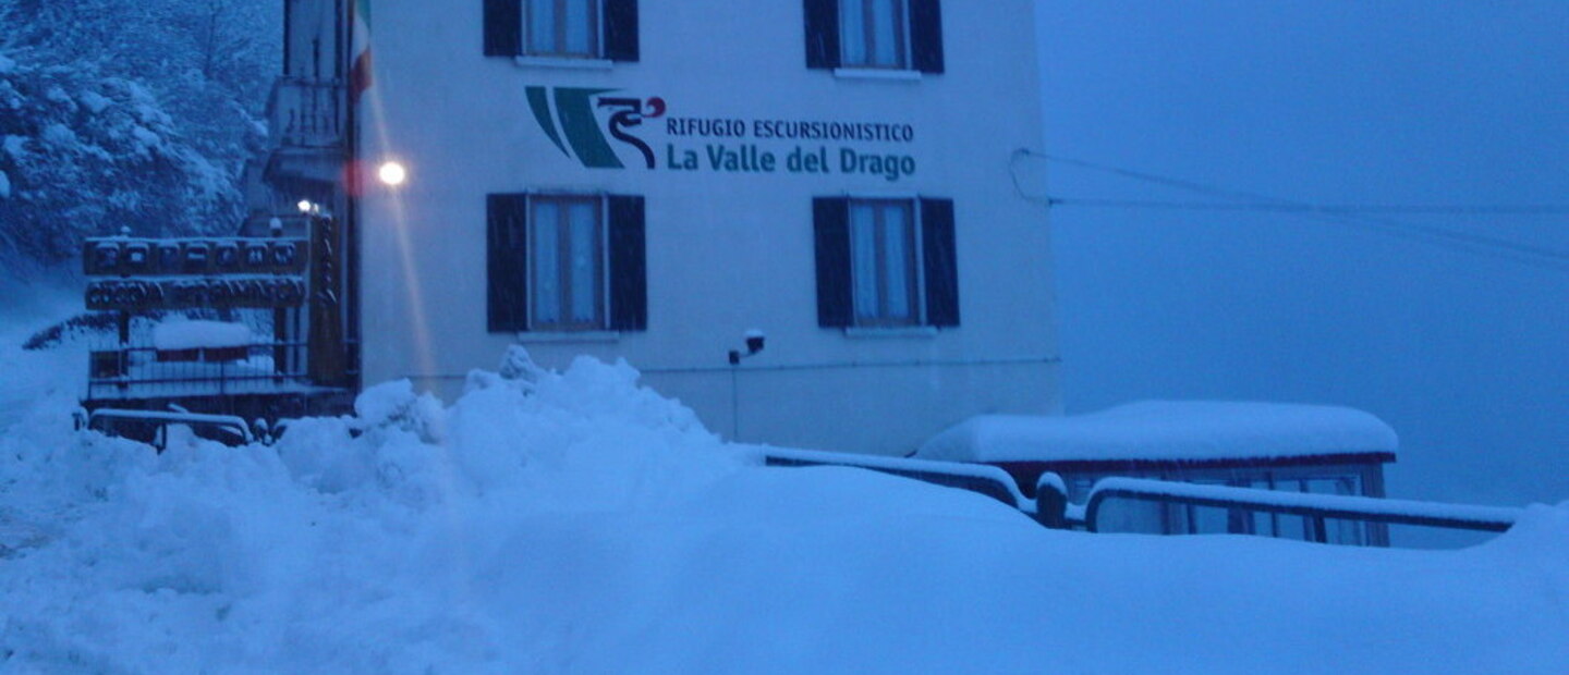
[[[1042, 0], [1039, 23], [1053, 155], [1310, 204], [1569, 204], [1569, 2]], [[1224, 200], [1047, 169], [1058, 197]], [[1395, 495], [1569, 500], [1569, 215], [1051, 226], [1068, 412], [1346, 404], [1401, 434]]]

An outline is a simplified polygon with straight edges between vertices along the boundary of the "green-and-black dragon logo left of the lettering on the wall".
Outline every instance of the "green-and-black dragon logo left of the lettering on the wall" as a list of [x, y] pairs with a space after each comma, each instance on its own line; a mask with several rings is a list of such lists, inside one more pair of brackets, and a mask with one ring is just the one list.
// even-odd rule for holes
[[[533, 119], [540, 122], [540, 128], [555, 144], [555, 149], [562, 150], [562, 155], [576, 157], [590, 169], [623, 169], [626, 164], [610, 147], [610, 141], [606, 138], [609, 133], [618, 143], [635, 149], [650, 169], [656, 166], [654, 150], [632, 130], [642, 127], [645, 119], [662, 117], [665, 114], [664, 99], [601, 97], [601, 94], [617, 89], [571, 86], [530, 86], [527, 91]], [[610, 113], [602, 125], [598, 110]]]

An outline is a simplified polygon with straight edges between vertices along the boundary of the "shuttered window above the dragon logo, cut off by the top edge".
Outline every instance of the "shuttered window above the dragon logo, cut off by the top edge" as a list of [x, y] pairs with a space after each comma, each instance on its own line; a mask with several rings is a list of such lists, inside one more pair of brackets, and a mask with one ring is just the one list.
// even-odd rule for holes
[[485, 0], [485, 55], [637, 61], [637, 0]]

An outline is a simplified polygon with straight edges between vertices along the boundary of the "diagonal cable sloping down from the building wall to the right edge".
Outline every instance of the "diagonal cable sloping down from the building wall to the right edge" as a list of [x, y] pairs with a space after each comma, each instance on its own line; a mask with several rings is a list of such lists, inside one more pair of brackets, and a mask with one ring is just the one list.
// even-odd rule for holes
[[[1451, 251], [1465, 251], [1478, 255], [1492, 255], [1506, 260], [1513, 260], [1523, 265], [1531, 265], [1538, 268], [1547, 268], [1555, 271], [1569, 271], [1569, 251], [1558, 251], [1536, 244], [1527, 244], [1520, 241], [1475, 235], [1469, 232], [1456, 232], [1443, 227], [1432, 226], [1417, 226], [1411, 222], [1390, 221], [1385, 218], [1368, 218], [1362, 213], [1354, 211], [1326, 211], [1320, 205], [1298, 202], [1291, 199], [1272, 197], [1268, 194], [1249, 193], [1233, 188], [1222, 188], [1214, 185], [1205, 185], [1194, 180], [1175, 179], [1169, 175], [1150, 174], [1144, 171], [1125, 169], [1120, 166], [1101, 164], [1087, 160], [1076, 160], [1070, 157], [1040, 153], [1034, 150], [1021, 150], [1023, 153], [1040, 157], [1047, 161], [1054, 161], [1059, 164], [1078, 166], [1084, 169], [1094, 169], [1108, 172], [1112, 175], [1120, 175], [1131, 180], [1139, 180], [1145, 183], [1166, 185], [1178, 190], [1186, 190], [1200, 194], [1210, 194], [1216, 197], [1224, 197], [1236, 204], [1233, 210], [1271, 210], [1274, 213], [1285, 213], [1301, 218], [1310, 218], [1316, 221], [1332, 222], [1341, 227], [1376, 232], [1387, 236], [1396, 236], [1403, 240], [1422, 241], [1429, 246], [1447, 247]], [[1111, 202], [1111, 200], [1106, 200]], [[1123, 200], [1130, 204], [1141, 204], [1136, 200]], [[1048, 200], [1050, 204], [1050, 200]], [[1156, 202], [1150, 202], [1156, 204]], [[1181, 202], [1172, 202], [1181, 204]], [[1108, 207], [1111, 204], [1106, 204]], [[1486, 207], [1486, 205], [1459, 205], [1459, 207]], [[1558, 208], [1556, 205], [1539, 205], [1549, 208]], [[1155, 208], [1155, 207], [1150, 207]], [[1519, 207], [1509, 207], [1519, 208]]]

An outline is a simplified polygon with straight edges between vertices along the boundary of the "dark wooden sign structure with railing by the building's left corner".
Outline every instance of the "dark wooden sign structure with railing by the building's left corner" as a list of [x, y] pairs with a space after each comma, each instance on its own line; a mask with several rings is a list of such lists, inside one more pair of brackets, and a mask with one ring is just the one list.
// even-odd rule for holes
[[290, 224], [295, 236], [275, 219], [271, 236], [88, 240], [86, 309], [115, 332], [89, 354], [83, 407], [273, 421], [347, 407], [358, 373], [336, 224]]

